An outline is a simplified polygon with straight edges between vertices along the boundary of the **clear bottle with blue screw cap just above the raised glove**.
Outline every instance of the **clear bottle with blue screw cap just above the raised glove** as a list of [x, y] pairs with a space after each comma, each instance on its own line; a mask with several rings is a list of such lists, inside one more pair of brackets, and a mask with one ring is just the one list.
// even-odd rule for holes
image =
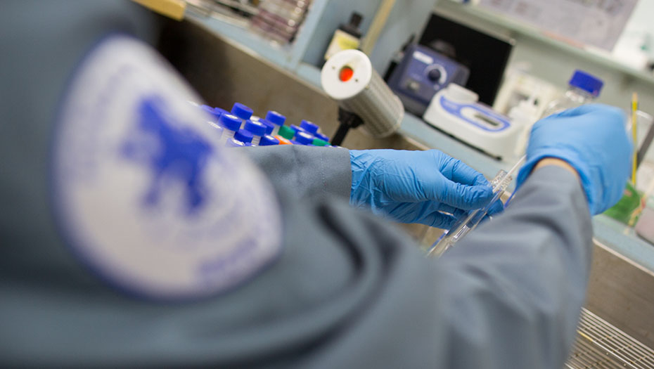
[[599, 96], [604, 82], [590, 73], [575, 70], [568, 85], [568, 91], [565, 91], [563, 96], [547, 105], [543, 117], [594, 101]]

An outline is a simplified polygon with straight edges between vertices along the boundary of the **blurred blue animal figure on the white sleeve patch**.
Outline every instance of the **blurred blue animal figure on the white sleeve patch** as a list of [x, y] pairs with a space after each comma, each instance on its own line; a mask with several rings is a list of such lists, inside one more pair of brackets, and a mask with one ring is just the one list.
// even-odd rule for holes
[[152, 181], [143, 197], [146, 206], [158, 205], [165, 183], [180, 181], [185, 188], [186, 209], [197, 212], [207, 198], [203, 174], [212, 147], [197, 132], [175, 124], [157, 97], [145, 98], [137, 111], [139, 122], [121, 148], [129, 160], [146, 164]]

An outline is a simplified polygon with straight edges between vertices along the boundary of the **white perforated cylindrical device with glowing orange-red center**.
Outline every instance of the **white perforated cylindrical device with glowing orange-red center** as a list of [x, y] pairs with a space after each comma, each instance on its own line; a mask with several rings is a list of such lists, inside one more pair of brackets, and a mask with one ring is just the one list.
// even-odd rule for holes
[[335, 53], [321, 70], [321, 84], [339, 105], [340, 126], [331, 141], [333, 145], [340, 145], [347, 131], [361, 123], [362, 129], [373, 137], [390, 136], [402, 124], [402, 101], [361, 51]]

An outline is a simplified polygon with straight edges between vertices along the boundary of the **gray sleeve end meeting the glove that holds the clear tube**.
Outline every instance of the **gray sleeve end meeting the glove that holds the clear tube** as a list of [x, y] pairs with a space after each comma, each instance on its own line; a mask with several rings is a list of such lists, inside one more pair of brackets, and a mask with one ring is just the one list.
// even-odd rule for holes
[[278, 190], [294, 198], [350, 200], [352, 168], [345, 148], [278, 145], [236, 150], [248, 154]]

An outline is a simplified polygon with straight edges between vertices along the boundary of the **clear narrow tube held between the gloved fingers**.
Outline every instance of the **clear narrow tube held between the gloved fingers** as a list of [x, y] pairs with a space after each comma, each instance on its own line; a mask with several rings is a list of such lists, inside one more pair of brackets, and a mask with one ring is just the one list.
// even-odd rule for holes
[[440, 257], [444, 252], [449, 250], [452, 245], [465, 237], [470, 233], [470, 231], [473, 231], [473, 229], [475, 229], [482, 219], [484, 219], [484, 217], [489, 213], [491, 207], [500, 200], [501, 196], [504, 194], [504, 190], [506, 190], [508, 184], [513, 180], [513, 173], [518, 170], [525, 160], [526, 157], [523, 156], [511, 169], [509, 169], [509, 171], [498, 171], [495, 178], [491, 181], [493, 198], [488, 205], [481, 209], [475, 209], [469, 214], [459, 216], [459, 219], [456, 220], [454, 226], [452, 226], [449, 231], [446, 230], [440, 238], [434, 242], [432, 247], [430, 247], [430, 250], [428, 250], [427, 255], [430, 257]]

